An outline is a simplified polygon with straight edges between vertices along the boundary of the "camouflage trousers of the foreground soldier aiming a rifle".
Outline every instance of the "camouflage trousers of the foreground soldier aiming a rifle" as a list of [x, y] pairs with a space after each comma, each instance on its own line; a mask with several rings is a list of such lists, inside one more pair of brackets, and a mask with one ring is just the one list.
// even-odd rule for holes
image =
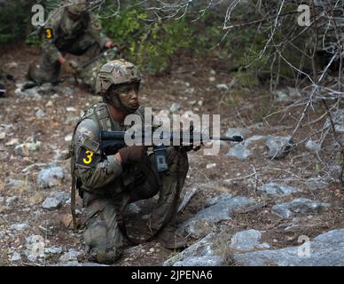
[[[131, 202], [149, 199], [159, 193], [150, 218], [153, 229], [160, 229], [176, 217], [179, 195], [189, 170], [186, 152], [168, 147], [168, 167], [168, 171], [159, 174], [155, 157], [151, 154], [123, 172], [124, 183], [130, 184], [121, 192], [112, 197], [84, 193], [86, 222], [83, 236], [90, 259], [113, 263], [121, 256], [124, 240], [116, 217]], [[142, 169], [145, 169], [144, 178]], [[113, 191], [118, 192], [119, 189]]]

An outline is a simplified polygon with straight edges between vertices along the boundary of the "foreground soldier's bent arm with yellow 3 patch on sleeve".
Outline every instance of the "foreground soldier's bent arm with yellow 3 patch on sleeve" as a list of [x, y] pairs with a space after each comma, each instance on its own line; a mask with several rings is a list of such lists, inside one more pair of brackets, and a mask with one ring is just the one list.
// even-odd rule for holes
[[75, 132], [76, 174], [82, 179], [82, 185], [98, 189], [112, 182], [122, 173], [121, 163], [114, 155], [102, 157], [99, 152], [98, 127], [95, 122], [86, 119]]

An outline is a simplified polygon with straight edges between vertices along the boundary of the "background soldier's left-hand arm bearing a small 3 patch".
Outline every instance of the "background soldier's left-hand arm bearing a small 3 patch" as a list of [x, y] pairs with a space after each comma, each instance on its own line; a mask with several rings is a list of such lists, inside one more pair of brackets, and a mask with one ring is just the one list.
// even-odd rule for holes
[[[42, 49], [48, 55], [51, 63], [55, 63], [63, 57], [62, 53], [55, 45], [55, 41], [57, 39], [57, 30], [59, 29], [61, 21], [61, 12], [51, 12], [48, 19], [48, 22], [44, 26]], [[47, 36], [47, 29], [51, 30], [51, 32], [48, 32], [51, 33], [51, 38], [49, 38], [49, 35]]]

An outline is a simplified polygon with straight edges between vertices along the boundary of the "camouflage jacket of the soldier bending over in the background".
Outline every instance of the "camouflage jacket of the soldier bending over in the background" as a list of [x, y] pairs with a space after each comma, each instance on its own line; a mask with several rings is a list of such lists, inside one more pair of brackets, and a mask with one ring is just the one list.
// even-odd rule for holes
[[52, 11], [44, 29], [51, 29], [51, 39], [45, 35], [43, 51], [56, 62], [62, 56], [61, 51], [66, 50], [79, 36], [90, 35], [95, 42], [103, 48], [110, 39], [104, 36], [100, 22], [96, 15], [84, 12], [79, 20], [71, 20], [66, 9]]

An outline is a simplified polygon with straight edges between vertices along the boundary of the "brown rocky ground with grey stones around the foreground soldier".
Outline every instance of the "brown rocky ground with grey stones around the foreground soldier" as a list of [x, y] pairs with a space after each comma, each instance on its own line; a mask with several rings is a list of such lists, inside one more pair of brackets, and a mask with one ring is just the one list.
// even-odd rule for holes
[[[71, 177], [63, 155], [82, 110], [99, 98], [68, 75], [59, 86], [20, 91], [29, 60], [38, 54], [20, 46], [0, 56], [16, 79], [0, 99], [0, 264], [93, 265], [84, 256], [82, 230], [70, 229]], [[114, 265], [344, 264], [343, 197], [332, 141], [324, 142], [325, 150], [311, 140], [298, 144], [324, 120], [305, 123], [291, 141], [302, 107], [262, 117], [301, 94], [286, 86], [272, 94], [264, 86], [244, 88], [225, 69], [215, 59], [181, 57], [170, 75], [144, 74], [141, 105], [155, 114], [221, 114], [223, 135], [242, 135], [245, 142], [224, 142], [216, 156], [189, 154], [176, 224], [188, 248], [128, 245]], [[307, 120], [323, 113], [314, 106]], [[138, 220], [129, 223], [129, 233], [139, 233], [153, 201], [129, 207], [127, 218]], [[80, 200], [77, 208], [82, 217]]]

